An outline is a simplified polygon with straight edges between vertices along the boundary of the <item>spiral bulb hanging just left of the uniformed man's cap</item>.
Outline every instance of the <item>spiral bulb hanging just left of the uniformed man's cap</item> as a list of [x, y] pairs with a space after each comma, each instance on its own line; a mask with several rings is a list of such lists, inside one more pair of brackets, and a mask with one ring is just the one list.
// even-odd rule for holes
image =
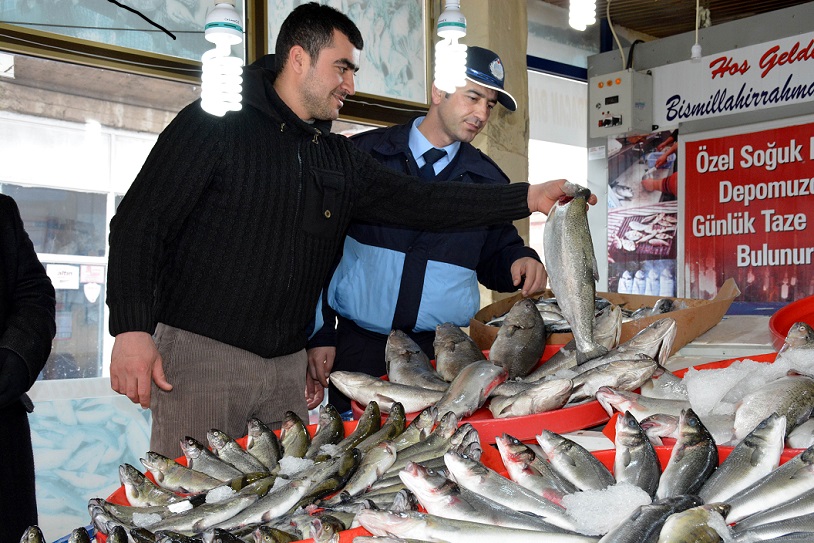
[[460, 0], [447, 0], [438, 18], [441, 41], [435, 44], [435, 86], [449, 93], [466, 85], [466, 44], [458, 42], [466, 36], [466, 18], [460, 8]]

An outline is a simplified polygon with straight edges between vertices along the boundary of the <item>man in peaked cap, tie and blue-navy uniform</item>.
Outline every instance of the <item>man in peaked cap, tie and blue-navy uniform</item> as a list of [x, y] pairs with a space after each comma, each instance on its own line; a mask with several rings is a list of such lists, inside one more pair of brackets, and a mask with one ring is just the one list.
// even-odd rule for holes
[[[427, 183], [508, 184], [506, 174], [471, 142], [498, 103], [509, 111], [517, 104], [504, 89], [497, 54], [469, 47], [466, 60], [466, 85], [451, 94], [433, 86], [426, 116], [351, 140], [394, 170], [426, 175]], [[425, 157], [432, 152], [439, 158], [429, 163]], [[480, 309], [479, 282], [501, 292], [522, 285], [527, 295], [545, 288], [546, 279], [537, 252], [511, 223], [460, 232], [351, 223], [326, 289], [324, 324], [308, 343], [309, 367], [384, 375], [391, 330], [406, 332], [433, 359], [435, 327], [469, 326]], [[328, 399], [350, 417], [350, 401], [330, 382]]]

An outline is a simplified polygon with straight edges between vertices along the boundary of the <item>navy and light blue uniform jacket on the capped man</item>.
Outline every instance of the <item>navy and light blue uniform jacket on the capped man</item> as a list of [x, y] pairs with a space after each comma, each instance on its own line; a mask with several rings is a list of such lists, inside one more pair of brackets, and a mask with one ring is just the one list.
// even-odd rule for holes
[[[351, 139], [382, 164], [417, 175], [408, 144], [412, 124], [379, 128]], [[449, 165], [424, 182], [444, 180], [509, 183], [497, 164], [469, 143], [461, 143]], [[351, 223], [308, 345], [335, 344], [331, 323], [337, 314], [384, 335], [394, 329], [435, 332], [444, 322], [469, 326], [480, 308], [478, 282], [491, 290], [515, 291], [510, 268], [522, 257], [540, 260], [511, 224], [427, 232]]]

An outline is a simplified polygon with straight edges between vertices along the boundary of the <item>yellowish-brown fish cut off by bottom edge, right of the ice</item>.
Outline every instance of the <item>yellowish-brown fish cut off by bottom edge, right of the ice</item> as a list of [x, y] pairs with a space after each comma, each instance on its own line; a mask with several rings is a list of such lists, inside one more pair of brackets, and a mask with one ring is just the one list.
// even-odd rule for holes
[[724, 517], [729, 513], [725, 503], [708, 503], [673, 513], [664, 522], [658, 543], [718, 543], [731, 541], [732, 534]]

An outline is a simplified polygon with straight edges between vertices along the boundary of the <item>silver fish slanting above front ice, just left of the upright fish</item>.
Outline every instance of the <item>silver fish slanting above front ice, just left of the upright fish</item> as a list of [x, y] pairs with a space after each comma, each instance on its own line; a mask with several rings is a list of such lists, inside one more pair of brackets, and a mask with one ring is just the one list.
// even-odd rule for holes
[[551, 466], [578, 489], [602, 490], [614, 483], [608, 468], [576, 441], [550, 430], [536, 437]]

